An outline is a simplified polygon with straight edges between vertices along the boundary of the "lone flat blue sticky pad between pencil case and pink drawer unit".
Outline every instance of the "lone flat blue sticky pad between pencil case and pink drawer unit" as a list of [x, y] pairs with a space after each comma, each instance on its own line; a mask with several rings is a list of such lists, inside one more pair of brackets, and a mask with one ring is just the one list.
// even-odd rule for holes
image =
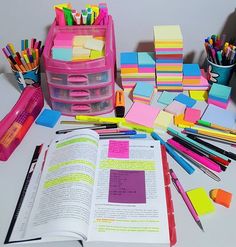
[[50, 109], [44, 109], [36, 119], [35, 123], [46, 127], [53, 128], [60, 118], [61, 113]]

